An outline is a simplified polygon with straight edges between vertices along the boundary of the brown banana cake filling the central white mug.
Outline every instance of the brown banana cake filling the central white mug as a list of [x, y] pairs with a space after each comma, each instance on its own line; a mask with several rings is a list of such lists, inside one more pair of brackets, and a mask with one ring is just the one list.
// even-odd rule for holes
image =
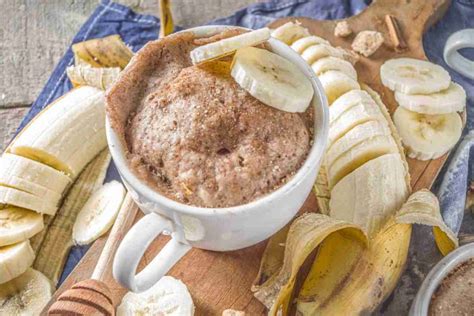
[[[267, 88], [274, 84], [276, 94], [299, 92], [294, 99], [304, 95], [307, 105], [300, 113], [269, 106], [260, 101], [265, 97], [259, 89], [242, 88], [243, 82], [231, 75], [235, 50], [193, 65], [194, 49], [222, 49], [232, 46], [226, 40], [253, 33], [241, 32], [208, 38], [183, 32], [151, 42], [108, 93], [110, 122], [123, 138], [129, 166], [157, 192], [178, 202], [200, 207], [248, 203], [286, 183], [311, 147], [313, 113], [307, 106], [313, 90], [302, 73], [293, 76], [289, 61], [260, 57], [275, 55], [263, 45], [237, 51], [249, 57], [246, 65], [254, 71], [249, 69], [249, 74], [261, 76], [257, 79]], [[300, 84], [302, 78], [307, 82]]]

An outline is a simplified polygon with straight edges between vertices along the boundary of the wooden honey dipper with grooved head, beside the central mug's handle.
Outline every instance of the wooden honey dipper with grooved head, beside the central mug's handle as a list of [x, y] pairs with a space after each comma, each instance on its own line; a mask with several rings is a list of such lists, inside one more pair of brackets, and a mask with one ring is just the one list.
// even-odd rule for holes
[[80, 281], [61, 294], [49, 308], [48, 315], [115, 315], [112, 293], [103, 280], [113, 254], [133, 224], [137, 211], [138, 207], [127, 193], [91, 279]]

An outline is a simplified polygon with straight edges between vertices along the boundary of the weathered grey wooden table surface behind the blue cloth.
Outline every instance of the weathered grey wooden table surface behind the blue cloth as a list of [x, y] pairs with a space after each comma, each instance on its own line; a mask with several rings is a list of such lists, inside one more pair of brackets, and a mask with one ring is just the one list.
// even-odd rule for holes
[[[116, 0], [158, 15], [158, 0]], [[191, 27], [255, 0], [172, 0], [175, 25]], [[98, 0], [2, 0], [0, 10], [0, 152]]]

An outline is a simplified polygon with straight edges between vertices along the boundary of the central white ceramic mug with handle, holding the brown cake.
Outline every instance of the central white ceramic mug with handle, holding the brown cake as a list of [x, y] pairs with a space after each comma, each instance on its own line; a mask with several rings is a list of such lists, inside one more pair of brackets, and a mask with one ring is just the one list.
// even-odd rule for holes
[[[205, 26], [187, 31], [210, 36], [228, 26]], [[172, 36], [172, 35], [171, 35]], [[129, 169], [122, 143], [107, 122], [113, 160], [133, 200], [146, 215], [123, 238], [117, 249], [113, 275], [122, 285], [141, 292], [155, 284], [191, 247], [230, 251], [252, 246], [277, 232], [298, 212], [319, 170], [328, 134], [328, 106], [324, 90], [311, 67], [290, 47], [270, 39], [271, 50], [295, 63], [311, 80], [314, 97], [314, 142], [303, 166], [279, 189], [250, 203], [228, 208], [203, 208], [171, 200], [148, 187]], [[138, 263], [159, 234], [171, 240], [140, 273]]]

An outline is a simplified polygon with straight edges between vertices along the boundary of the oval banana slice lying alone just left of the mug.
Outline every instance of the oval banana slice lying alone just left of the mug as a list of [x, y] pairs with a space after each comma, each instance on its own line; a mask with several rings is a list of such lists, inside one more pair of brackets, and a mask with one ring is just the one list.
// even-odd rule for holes
[[104, 184], [91, 195], [77, 215], [72, 237], [78, 245], [87, 245], [112, 227], [125, 198], [125, 188], [118, 181]]

